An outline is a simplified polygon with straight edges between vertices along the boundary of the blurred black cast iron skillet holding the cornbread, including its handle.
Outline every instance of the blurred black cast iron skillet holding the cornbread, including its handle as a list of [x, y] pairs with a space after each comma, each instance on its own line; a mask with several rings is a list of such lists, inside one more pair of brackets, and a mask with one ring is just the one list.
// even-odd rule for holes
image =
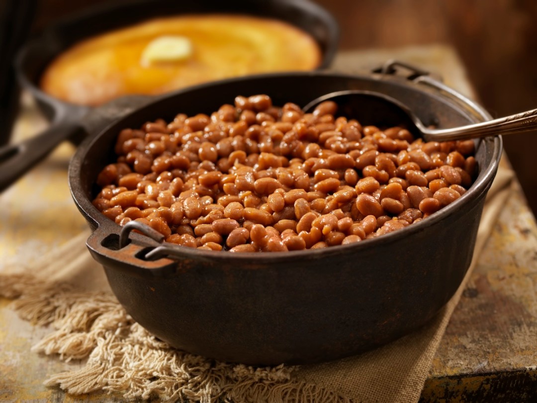
[[37, 99], [41, 109], [52, 119], [52, 125], [30, 140], [0, 148], [0, 191], [24, 175], [61, 141], [69, 139], [79, 143], [86, 134], [103, 128], [103, 123], [119, 118], [151, 99], [122, 97], [91, 109], [50, 97], [39, 89], [39, 78], [56, 55], [99, 33], [153, 17], [187, 13], [241, 13], [287, 21], [308, 32], [318, 42], [322, 51], [320, 69], [328, 67], [336, 53], [339, 38], [336, 20], [309, 0], [131, 0], [61, 20], [28, 42], [16, 58], [20, 84]]

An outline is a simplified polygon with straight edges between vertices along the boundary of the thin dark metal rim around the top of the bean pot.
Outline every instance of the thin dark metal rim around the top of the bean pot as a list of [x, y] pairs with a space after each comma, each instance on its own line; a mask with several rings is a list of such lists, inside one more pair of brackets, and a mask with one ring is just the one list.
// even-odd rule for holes
[[[338, 76], [338, 77], [349, 77], [349, 78], [373, 78], [373, 80], [395, 80], [400, 81], [401, 77], [395, 77], [390, 76], [387, 77], [385, 75], [375, 75], [375, 74], [346, 74], [346, 73], [335, 73], [333, 71], [309, 71], [309, 72], [303, 72], [303, 71], [295, 71], [295, 72], [286, 72], [286, 73], [270, 73], [270, 74], [258, 74], [258, 75], [249, 75], [245, 77], [235, 77], [235, 78], [227, 78], [225, 80], [219, 80], [219, 81], [213, 81], [208, 83], [203, 83], [199, 85], [195, 85], [192, 87], [180, 89], [178, 91], [174, 91], [171, 93], [166, 93], [163, 96], [160, 96], [153, 100], [153, 102], [150, 102], [148, 105], [144, 105], [141, 108], [137, 108], [133, 112], [127, 114], [125, 117], [122, 117], [119, 120], [114, 121], [112, 124], [108, 125], [103, 131], [100, 131], [95, 136], [90, 136], [86, 138], [81, 146], [78, 147], [75, 155], [72, 157], [71, 162], [69, 164], [69, 187], [71, 191], [71, 196], [75, 200], [75, 203], [77, 204], [79, 210], [83, 212], [84, 215], [86, 215], [87, 219], [91, 219], [95, 226], [101, 226], [101, 225], [107, 225], [108, 228], [115, 229], [117, 231], [117, 234], [121, 231], [121, 226], [119, 224], [116, 224], [112, 220], [108, 219], [103, 215], [101, 212], [97, 210], [95, 206], [91, 203], [90, 198], [85, 194], [85, 192], [82, 189], [81, 183], [79, 181], [79, 177], [81, 174], [81, 168], [83, 165], [83, 162], [85, 161], [85, 156], [87, 152], [92, 148], [93, 143], [100, 138], [104, 133], [110, 131], [111, 129], [114, 129], [114, 126], [120, 125], [122, 121], [125, 119], [128, 119], [132, 117], [133, 115], [139, 113], [146, 107], [150, 107], [151, 105], [154, 105], [158, 102], [166, 102], [166, 100], [182, 95], [183, 93], [188, 93], [191, 91], [196, 91], [198, 89], [212, 87], [214, 85], [219, 84], [227, 84], [227, 83], [234, 83], [234, 82], [242, 82], [242, 81], [248, 81], [248, 80], [259, 80], [263, 78], [271, 78], [271, 77], [296, 77], [296, 76]], [[405, 85], [411, 85], [411, 86], [417, 86], [419, 83], [412, 82], [412, 81], [405, 81]], [[422, 87], [420, 87], [422, 88]], [[485, 121], [490, 120], [491, 116], [490, 114], [483, 109], [480, 105], [476, 104], [475, 102], [471, 101], [465, 96], [460, 95], [460, 93], [453, 91], [456, 93], [457, 98], [463, 103], [463, 106], [465, 106], [467, 109], [470, 110], [476, 116], [477, 119]], [[433, 95], [432, 95], [433, 96]], [[444, 97], [446, 96], [441, 95], [440, 93], [437, 93], [437, 96]], [[426, 220], [422, 220], [420, 222], [416, 222], [415, 224], [409, 225], [405, 228], [402, 228], [398, 231], [390, 232], [387, 234], [383, 234], [382, 236], [379, 236], [378, 238], [363, 240], [360, 242], [354, 242], [351, 244], [346, 245], [336, 245], [336, 246], [330, 246], [327, 248], [322, 249], [304, 249], [304, 250], [290, 250], [290, 251], [281, 251], [281, 252], [270, 252], [270, 253], [260, 253], [260, 252], [245, 252], [245, 253], [226, 253], [225, 251], [213, 251], [213, 250], [199, 250], [197, 248], [187, 248], [187, 247], [181, 247], [175, 244], [164, 242], [163, 244], [166, 246], [170, 246], [172, 248], [176, 248], [177, 250], [180, 250], [180, 255], [182, 257], [192, 257], [192, 258], [204, 258], [206, 260], [232, 260], [237, 262], [263, 262], [267, 263], [279, 263], [279, 262], [290, 262], [290, 261], [297, 261], [297, 260], [304, 260], [305, 257], [310, 259], [317, 259], [321, 256], [330, 256], [333, 254], [339, 254], [345, 252], [349, 252], [350, 250], [355, 251], [356, 253], [359, 253], [360, 251], [364, 251], [365, 249], [371, 249], [374, 251], [375, 246], [379, 246], [382, 244], [391, 244], [395, 243], [398, 240], [406, 237], [411, 236], [413, 233], [423, 231], [426, 227], [434, 226], [439, 221], [442, 221], [446, 219], [447, 217], [451, 216], [452, 214], [456, 214], [456, 211], [459, 210], [459, 208], [464, 207], [467, 203], [466, 200], [470, 201], [472, 197], [476, 198], [482, 195], [482, 193], [485, 193], [490, 188], [490, 185], [492, 184], [492, 180], [494, 179], [496, 175], [496, 171], [498, 169], [499, 160], [502, 155], [502, 138], [500, 135], [492, 136], [488, 138], [484, 138], [480, 140], [480, 146], [481, 147], [491, 147], [492, 153], [491, 153], [491, 160], [490, 163], [487, 165], [487, 167], [483, 167], [482, 170], [480, 170], [478, 177], [476, 181], [470, 186], [468, 191], [462, 195], [460, 198], [455, 200], [453, 203], [441, 208], [438, 212], [431, 214], [430, 217], [427, 217]], [[77, 195], [84, 195], [82, 197]], [[171, 257], [173, 258], [173, 257]]]

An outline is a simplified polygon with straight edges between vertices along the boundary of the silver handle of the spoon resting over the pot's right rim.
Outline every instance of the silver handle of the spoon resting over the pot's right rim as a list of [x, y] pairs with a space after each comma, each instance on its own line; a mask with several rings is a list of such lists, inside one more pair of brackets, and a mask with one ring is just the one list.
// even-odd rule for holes
[[451, 129], [425, 129], [424, 134], [428, 141], [453, 141], [515, 134], [534, 129], [537, 129], [537, 109]]

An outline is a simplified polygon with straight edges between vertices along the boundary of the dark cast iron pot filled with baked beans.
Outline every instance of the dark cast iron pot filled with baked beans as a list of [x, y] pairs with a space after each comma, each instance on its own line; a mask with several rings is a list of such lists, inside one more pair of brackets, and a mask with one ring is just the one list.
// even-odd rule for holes
[[[425, 124], [490, 119], [430, 77], [323, 72], [238, 78], [185, 89], [129, 113], [89, 138], [69, 168], [72, 196], [93, 233], [92, 256], [127, 312], [151, 333], [194, 354], [246, 364], [328, 361], [372, 349], [423, 326], [461, 284], [473, 254], [485, 195], [502, 150], [478, 142], [470, 190], [431, 217], [379, 238], [323, 250], [231, 254], [159, 243], [124, 231], [92, 204], [95, 181], [114, 161], [122, 128], [175, 114], [210, 113], [235, 96], [266, 93], [274, 104], [342, 89], [380, 91]], [[382, 117], [386, 125], [399, 122]], [[362, 124], [378, 123], [362, 119]], [[104, 150], [110, 150], [106, 153]], [[148, 256], [152, 256], [149, 258]]]

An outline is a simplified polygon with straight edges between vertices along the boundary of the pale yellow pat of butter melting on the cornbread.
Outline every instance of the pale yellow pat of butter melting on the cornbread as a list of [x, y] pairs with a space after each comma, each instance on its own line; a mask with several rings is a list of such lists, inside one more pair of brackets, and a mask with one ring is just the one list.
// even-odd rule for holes
[[142, 52], [142, 66], [159, 62], [175, 62], [192, 56], [192, 42], [186, 37], [158, 37], [146, 46]]

